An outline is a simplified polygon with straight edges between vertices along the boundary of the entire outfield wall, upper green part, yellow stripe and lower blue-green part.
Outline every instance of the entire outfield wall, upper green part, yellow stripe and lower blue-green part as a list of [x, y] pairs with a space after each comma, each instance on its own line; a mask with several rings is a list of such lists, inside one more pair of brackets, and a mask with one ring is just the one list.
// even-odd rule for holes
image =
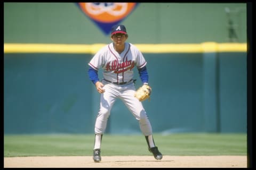
[[[138, 3], [120, 22], [148, 61], [155, 132], [246, 132], [246, 17], [246, 3]], [[4, 133], [93, 133], [87, 63], [107, 43], [77, 3], [5, 2]], [[107, 132], [140, 133], [120, 101]]]

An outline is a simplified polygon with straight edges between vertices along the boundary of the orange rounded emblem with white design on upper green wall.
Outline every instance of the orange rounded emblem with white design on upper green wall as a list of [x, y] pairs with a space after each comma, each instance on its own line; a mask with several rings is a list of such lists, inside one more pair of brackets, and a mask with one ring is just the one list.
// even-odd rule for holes
[[115, 22], [127, 16], [136, 3], [79, 3], [82, 11], [99, 22]]

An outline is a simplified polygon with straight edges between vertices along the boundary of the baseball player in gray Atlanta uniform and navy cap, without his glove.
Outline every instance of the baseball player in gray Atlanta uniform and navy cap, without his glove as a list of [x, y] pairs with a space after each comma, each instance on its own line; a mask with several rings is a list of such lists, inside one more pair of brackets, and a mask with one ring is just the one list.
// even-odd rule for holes
[[[95, 139], [93, 148], [94, 162], [100, 162], [102, 135], [105, 132], [111, 108], [117, 98], [121, 99], [133, 116], [138, 120], [140, 130], [145, 135], [148, 149], [155, 159], [162, 159], [161, 152], [155, 146], [152, 128], [141, 101], [134, 97], [135, 86], [133, 69], [137, 67], [142, 84], [148, 84], [146, 60], [137, 47], [126, 43], [128, 38], [124, 25], [111, 28], [111, 43], [101, 48], [89, 62], [89, 78], [101, 94], [100, 109], [95, 121]], [[98, 70], [103, 69], [103, 80], [98, 77]]]

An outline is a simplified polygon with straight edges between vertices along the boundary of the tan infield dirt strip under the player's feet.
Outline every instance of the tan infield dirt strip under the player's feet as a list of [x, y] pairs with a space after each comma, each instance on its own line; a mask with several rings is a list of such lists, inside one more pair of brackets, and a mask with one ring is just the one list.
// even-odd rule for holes
[[101, 156], [101, 159], [100, 163], [94, 163], [92, 156], [5, 157], [4, 168], [247, 167], [247, 156], [163, 156], [162, 160], [153, 156]]

